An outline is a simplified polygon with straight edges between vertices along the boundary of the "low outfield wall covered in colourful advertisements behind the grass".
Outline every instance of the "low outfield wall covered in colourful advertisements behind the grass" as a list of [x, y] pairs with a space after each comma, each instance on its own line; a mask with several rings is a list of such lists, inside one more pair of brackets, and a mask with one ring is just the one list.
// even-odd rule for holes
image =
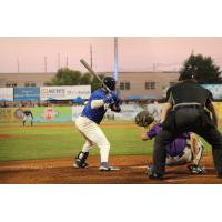
[[[219, 113], [220, 125], [222, 125], [222, 102], [214, 103]], [[151, 110], [157, 105], [158, 110], [161, 109], [161, 104], [148, 104], [145, 108], [141, 108], [137, 104], [122, 104], [122, 112], [114, 113], [110, 110], [105, 117], [115, 120], [134, 120], [134, 117], [140, 111], [147, 109]], [[22, 111], [27, 108], [0, 108], [0, 122], [21, 122]], [[30, 108], [34, 122], [71, 122], [75, 121], [77, 117], [83, 110], [83, 105], [74, 107], [34, 107]]]

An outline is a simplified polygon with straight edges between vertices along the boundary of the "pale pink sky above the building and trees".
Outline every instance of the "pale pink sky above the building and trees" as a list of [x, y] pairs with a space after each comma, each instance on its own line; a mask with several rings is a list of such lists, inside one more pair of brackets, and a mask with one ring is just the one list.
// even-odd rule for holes
[[[80, 63], [90, 61], [92, 46], [93, 69], [113, 71], [113, 37], [1, 37], [0, 73], [56, 72], [60, 67], [85, 71]], [[191, 54], [213, 58], [222, 70], [222, 37], [119, 37], [119, 71], [176, 71]], [[18, 62], [19, 61], [19, 62]]]

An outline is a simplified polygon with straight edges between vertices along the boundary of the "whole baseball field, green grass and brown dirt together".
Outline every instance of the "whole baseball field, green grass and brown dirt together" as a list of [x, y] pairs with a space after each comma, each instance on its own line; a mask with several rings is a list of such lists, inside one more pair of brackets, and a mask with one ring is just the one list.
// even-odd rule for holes
[[202, 165], [205, 173], [191, 175], [186, 165], [167, 168], [163, 181], [151, 181], [145, 171], [152, 162], [153, 141], [140, 139], [141, 129], [133, 122], [104, 121], [102, 129], [111, 143], [110, 164], [120, 171], [100, 172], [99, 149], [89, 157], [90, 168], [73, 169], [83, 139], [73, 123], [0, 124], [1, 184], [143, 184], [143, 183], [222, 183], [216, 179], [211, 148], [205, 143]]

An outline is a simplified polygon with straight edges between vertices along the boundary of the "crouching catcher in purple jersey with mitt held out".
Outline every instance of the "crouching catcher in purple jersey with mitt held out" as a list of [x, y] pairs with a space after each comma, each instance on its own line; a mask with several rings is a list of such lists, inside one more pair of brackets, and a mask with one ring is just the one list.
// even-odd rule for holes
[[[152, 124], [154, 122], [154, 124]], [[161, 124], [154, 121], [153, 115], [148, 111], [142, 111], [135, 117], [135, 124], [139, 127], [150, 127], [147, 131], [142, 131], [141, 139], [152, 140], [162, 129]], [[193, 174], [203, 173], [204, 170], [200, 165], [203, 153], [203, 143], [195, 137], [194, 133], [185, 132], [181, 137], [173, 140], [167, 148], [167, 165], [188, 164], [189, 170]]]

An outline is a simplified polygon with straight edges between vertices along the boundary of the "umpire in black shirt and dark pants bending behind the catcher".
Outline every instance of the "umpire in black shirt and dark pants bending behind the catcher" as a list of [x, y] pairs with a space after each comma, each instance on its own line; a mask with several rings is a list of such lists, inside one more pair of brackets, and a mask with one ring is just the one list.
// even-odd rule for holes
[[167, 145], [183, 132], [195, 132], [212, 145], [218, 178], [222, 178], [222, 135], [218, 130], [212, 94], [198, 84], [192, 69], [184, 71], [182, 82], [169, 88], [161, 123], [162, 131], [154, 141], [153, 165], [148, 168], [150, 179], [163, 179]]

